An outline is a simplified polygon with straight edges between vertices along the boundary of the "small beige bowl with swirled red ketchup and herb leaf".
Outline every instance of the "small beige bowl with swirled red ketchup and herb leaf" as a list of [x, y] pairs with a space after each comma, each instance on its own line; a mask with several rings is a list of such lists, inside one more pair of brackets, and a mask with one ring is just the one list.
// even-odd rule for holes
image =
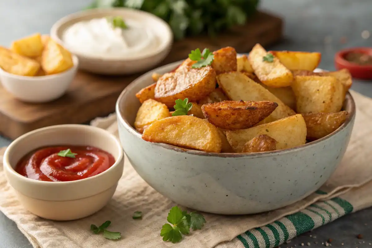
[[56, 125], [17, 138], [3, 163], [27, 210], [67, 221], [92, 215], [109, 202], [123, 173], [124, 153], [103, 129]]

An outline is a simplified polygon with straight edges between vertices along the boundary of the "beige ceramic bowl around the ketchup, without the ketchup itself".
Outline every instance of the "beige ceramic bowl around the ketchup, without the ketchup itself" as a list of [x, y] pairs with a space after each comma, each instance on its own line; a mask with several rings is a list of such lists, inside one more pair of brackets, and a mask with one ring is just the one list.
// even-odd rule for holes
[[[115, 163], [104, 172], [70, 182], [29, 179], [15, 171], [17, 162], [44, 146], [94, 146], [112, 154]], [[18, 199], [30, 212], [45, 219], [67, 221], [92, 215], [112, 198], [123, 173], [124, 153], [108, 131], [88, 125], [55, 125], [17, 138], [4, 154], [4, 171]]]

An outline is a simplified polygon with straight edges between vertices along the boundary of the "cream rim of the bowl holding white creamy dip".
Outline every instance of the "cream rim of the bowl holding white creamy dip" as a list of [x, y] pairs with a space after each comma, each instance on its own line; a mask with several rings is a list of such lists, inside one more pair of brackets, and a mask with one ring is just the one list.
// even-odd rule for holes
[[[160, 22], [164, 26], [164, 28], [167, 30], [167, 32], [165, 34], [162, 34], [162, 36], [166, 36], [167, 39], [165, 40], [165, 42], [162, 42], [160, 44], [160, 46], [158, 46], [158, 48], [154, 49], [153, 51], [151, 51], [147, 54], [144, 54], [144, 55], [135, 56], [133, 58], [125, 58], [125, 57], [122, 57], [122, 58], [104, 58], [104, 57], [100, 57], [100, 56], [89, 55], [89, 54], [86, 54], [86, 53], [80, 53], [80, 52], [77, 52], [76, 50], [73, 51], [74, 54], [76, 54], [77, 56], [82, 57], [82, 58], [101, 60], [101, 61], [113, 61], [113, 62], [115, 62], [115, 61], [138, 61], [138, 60], [141, 60], [141, 59], [151, 58], [153, 56], [156, 56], [156, 55], [160, 54], [164, 50], [169, 49], [169, 47], [173, 43], [173, 32], [172, 32], [170, 26], [168, 25], [168, 23], [166, 23], [163, 19], [161, 19], [160, 17], [155, 16], [154, 14], [151, 14], [151, 13], [148, 13], [148, 12], [145, 12], [145, 11], [142, 11], [142, 10], [131, 9], [131, 8], [126, 8], [126, 7], [110, 7], [110, 8], [102, 8], [102, 9], [99, 9], [99, 8], [88, 9], [88, 10], [81, 10], [79, 12], [68, 14], [67, 16], [62, 17], [61, 19], [59, 19], [57, 22], [55, 22], [52, 25], [52, 28], [50, 30], [51, 37], [52, 37], [52, 39], [55, 39], [58, 43], [64, 44], [64, 41], [63, 41], [62, 37], [60, 37], [58, 35], [58, 32], [61, 29], [62, 25], [64, 25], [67, 22], [73, 22], [72, 24], [74, 24], [74, 23], [77, 22], [77, 19], [80, 19], [81, 17], [89, 17], [89, 16], [92, 16], [94, 14], [110, 13], [110, 12], [122, 12], [123, 15], [126, 12], [132, 12], [132, 13], [135, 13], [135, 14], [138, 14], [138, 15], [153, 18], [153, 19], [157, 20], [158, 22]], [[92, 17], [92, 18], [94, 18], [94, 17]], [[62, 30], [62, 32], [64, 32], [64, 30]]]

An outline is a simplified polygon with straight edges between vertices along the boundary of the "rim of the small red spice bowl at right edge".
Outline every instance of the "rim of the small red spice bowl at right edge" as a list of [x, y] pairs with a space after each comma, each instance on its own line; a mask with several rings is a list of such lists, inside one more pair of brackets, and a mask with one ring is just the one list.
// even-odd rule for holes
[[343, 66], [344, 68], [347, 68], [347, 69], [359, 70], [359, 71], [372, 70], [372, 65], [358, 65], [356, 63], [351, 63], [347, 61], [344, 58], [344, 56], [350, 52], [360, 52], [360, 53], [365, 53], [365, 54], [372, 56], [372, 48], [368, 48], [368, 47], [346, 48], [346, 49], [339, 50], [336, 53], [336, 55], [334, 56], [335, 62], [339, 66]]

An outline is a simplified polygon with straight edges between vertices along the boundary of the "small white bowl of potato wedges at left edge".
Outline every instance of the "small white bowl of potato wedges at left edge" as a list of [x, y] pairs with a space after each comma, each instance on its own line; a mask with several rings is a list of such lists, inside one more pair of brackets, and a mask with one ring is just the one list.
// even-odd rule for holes
[[71, 84], [78, 59], [48, 35], [36, 33], [0, 46], [0, 82], [24, 102], [49, 102]]

